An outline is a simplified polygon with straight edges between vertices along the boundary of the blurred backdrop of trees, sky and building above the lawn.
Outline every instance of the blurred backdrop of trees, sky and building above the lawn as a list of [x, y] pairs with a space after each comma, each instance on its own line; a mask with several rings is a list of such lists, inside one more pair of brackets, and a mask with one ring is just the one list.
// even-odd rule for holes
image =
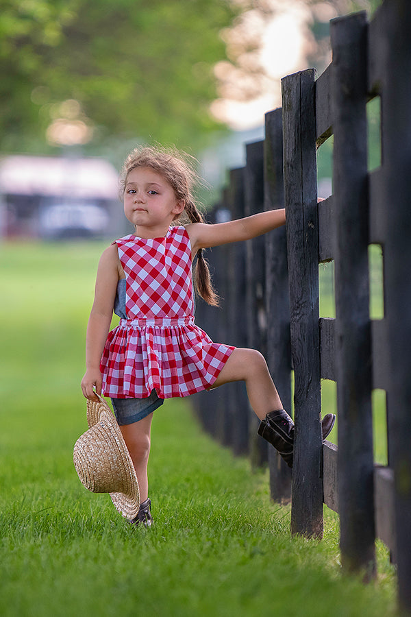
[[[195, 156], [210, 205], [281, 77], [329, 63], [329, 19], [380, 3], [1, 0], [0, 236], [123, 232], [117, 174], [140, 143]], [[330, 176], [325, 154], [323, 196]]]

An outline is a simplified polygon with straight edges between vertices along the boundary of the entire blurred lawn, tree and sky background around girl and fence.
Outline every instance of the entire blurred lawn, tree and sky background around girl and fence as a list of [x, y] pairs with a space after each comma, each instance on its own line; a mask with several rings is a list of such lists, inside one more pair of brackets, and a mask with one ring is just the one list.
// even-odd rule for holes
[[[340, 577], [334, 513], [325, 509], [320, 545], [290, 538], [268, 470], [208, 439], [188, 400], [155, 413], [147, 535], [84, 489], [72, 458], [87, 428], [79, 383], [97, 263], [127, 232], [118, 173], [129, 150], [186, 151], [206, 180], [197, 197], [213, 206], [245, 142], [263, 138], [264, 113], [281, 106], [281, 77], [320, 74], [329, 19], [371, 16], [380, 3], [0, 0], [1, 616], [396, 614], [386, 548], [375, 585]], [[371, 169], [381, 158], [373, 101], [367, 115]], [[318, 173], [327, 197], [331, 138]], [[373, 318], [383, 312], [376, 258]], [[332, 269], [320, 291], [321, 316], [333, 317]], [[335, 398], [324, 383], [323, 407]], [[375, 448], [384, 463], [385, 441]]]

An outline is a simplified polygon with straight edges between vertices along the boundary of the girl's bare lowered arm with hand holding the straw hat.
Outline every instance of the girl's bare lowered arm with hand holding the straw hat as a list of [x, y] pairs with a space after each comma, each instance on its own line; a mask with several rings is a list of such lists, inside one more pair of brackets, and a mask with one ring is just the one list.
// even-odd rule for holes
[[98, 394], [101, 394], [101, 354], [103, 354], [112, 320], [120, 268], [117, 247], [111, 245], [103, 252], [99, 261], [95, 300], [87, 326], [86, 374], [82, 379], [82, 391], [84, 396], [90, 399], [95, 398], [93, 387]]

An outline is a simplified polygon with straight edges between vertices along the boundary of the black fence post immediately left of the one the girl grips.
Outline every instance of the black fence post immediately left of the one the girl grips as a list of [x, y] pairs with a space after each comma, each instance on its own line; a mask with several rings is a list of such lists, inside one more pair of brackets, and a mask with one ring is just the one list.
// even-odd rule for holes
[[[282, 110], [265, 116], [264, 210], [284, 208]], [[291, 413], [290, 300], [285, 228], [266, 234], [267, 362], [284, 409]], [[271, 498], [289, 500], [291, 470], [269, 446]]]

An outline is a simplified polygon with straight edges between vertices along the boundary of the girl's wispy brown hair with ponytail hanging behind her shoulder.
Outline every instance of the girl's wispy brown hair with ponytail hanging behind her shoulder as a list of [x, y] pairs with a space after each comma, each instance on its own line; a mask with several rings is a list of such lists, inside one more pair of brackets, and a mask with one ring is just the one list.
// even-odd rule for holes
[[[190, 160], [190, 162], [189, 162]], [[164, 149], [160, 147], [144, 146], [137, 147], [125, 159], [121, 171], [121, 193], [124, 194], [127, 176], [136, 167], [150, 167], [168, 182], [175, 193], [177, 200], [184, 201], [183, 215], [175, 223], [204, 223], [204, 217], [195, 205], [192, 196], [193, 186], [199, 182], [199, 177], [192, 167], [194, 159], [185, 153], [177, 152], [175, 149]], [[210, 269], [203, 256], [203, 249], [197, 251], [195, 263], [195, 288], [211, 306], [219, 306], [219, 297], [214, 291], [211, 282]]]

